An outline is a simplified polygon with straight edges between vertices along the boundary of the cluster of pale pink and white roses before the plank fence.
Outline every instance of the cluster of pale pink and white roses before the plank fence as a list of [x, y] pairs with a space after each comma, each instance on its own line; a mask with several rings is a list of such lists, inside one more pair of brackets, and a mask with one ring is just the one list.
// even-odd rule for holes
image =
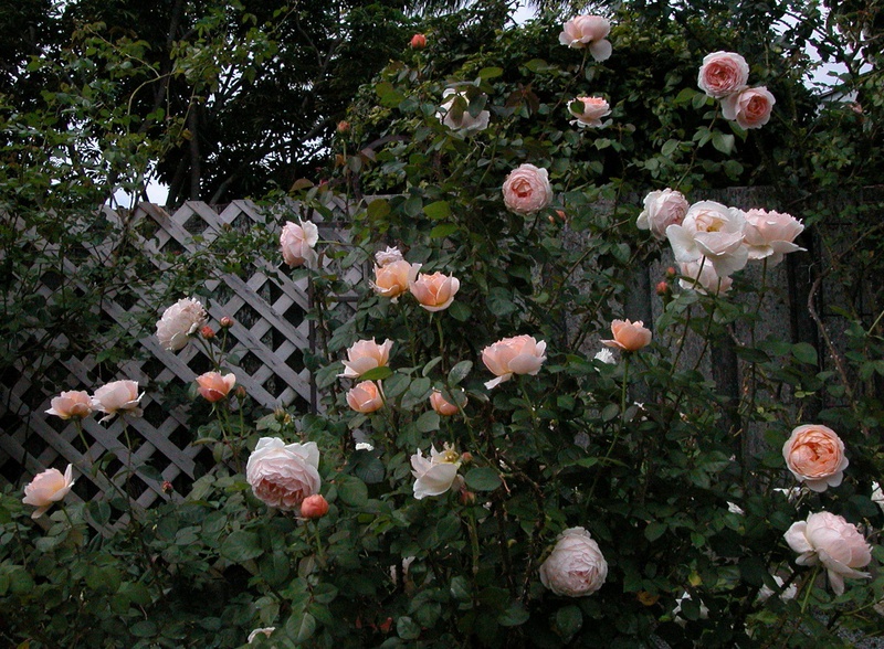
[[644, 199], [636, 225], [666, 238], [681, 267], [683, 288], [701, 292], [725, 292], [730, 275], [749, 260], [772, 267], [783, 255], [803, 248], [794, 240], [803, 224], [790, 214], [728, 208], [715, 201], [693, 205], [681, 192], [653, 191]]

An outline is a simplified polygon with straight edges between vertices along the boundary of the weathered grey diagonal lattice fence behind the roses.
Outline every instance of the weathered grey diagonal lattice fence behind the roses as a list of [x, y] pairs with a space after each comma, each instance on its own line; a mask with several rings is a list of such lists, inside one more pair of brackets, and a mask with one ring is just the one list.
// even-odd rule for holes
[[[337, 210], [345, 214], [343, 205], [329, 208], [333, 213]], [[298, 205], [288, 205], [281, 212], [291, 214], [290, 219], [294, 220]], [[118, 217], [109, 212], [106, 215]], [[316, 214], [309, 216], [319, 221]], [[172, 272], [170, 259], [176, 254], [200, 254], [222, 232], [231, 228], [246, 232], [260, 224], [276, 232], [286, 220], [284, 216], [269, 219], [248, 201], [236, 201], [220, 212], [204, 203], [191, 202], [171, 215], [159, 206], [141, 204], [131, 219], [138, 224], [133, 233], [148, 233], [131, 236], [147, 253], [155, 275], [160, 278], [155, 287], [157, 294], [161, 292], [164, 275]], [[340, 228], [335, 223], [319, 226], [324, 240], [341, 240]], [[110, 259], [113, 253], [105, 245], [88, 251], [102, 263]], [[314, 339], [312, 323], [305, 319], [311, 301], [309, 287], [306, 278], [293, 280], [285, 267], [280, 267], [280, 262], [276, 257], [254, 259], [248, 276], [213, 274], [206, 283], [209, 298], [203, 301], [208, 301], [210, 324], [215, 330], [224, 316], [234, 321], [228, 330], [227, 351], [230, 359], [238, 359], [233, 368], [236, 382], [245, 387], [251, 398], [269, 409], [284, 406], [294, 412], [315, 411], [318, 398], [303, 359]], [[69, 276], [76, 276], [77, 268], [70, 257], [61, 267]], [[361, 269], [352, 269], [346, 279], [359, 281]], [[49, 298], [56, 288], [53, 284], [49, 279], [42, 284], [40, 295]], [[78, 290], [87, 291], [90, 287], [82, 286]], [[169, 304], [180, 297], [186, 296], [170, 297]], [[341, 307], [347, 308], [352, 298], [340, 296], [339, 299]], [[103, 299], [103, 316], [126, 328], [139, 316], [158, 317], [168, 306], [149, 302], [146, 296], [133, 297], [124, 287]], [[113, 340], [104, 342], [114, 343]], [[64, 350], [65, 343], [61, 336], [50, 341], [48, 349]], [[99, 457], [107, 460], [109, 456], [104, 472], [119, 486], [128, 482], [128, 492], [137, 507], [150, 507], [161, 498], [162, 481], [171, 482], [178, 491], [186, 491], [198, 468], [210, 466], [212, 458], [207, 447], [191, 445], [194, 436], [189, 405], [169, 408], [158, 398], [158, 392], [162, 385], [192, 383], [197, 375], [211, 369], [211, 363], [197, 344], [170, 352], [162, 349], [154, 336], [145, 336], [139, 343], [147, 352], [144, 358], [122, 363], [114, 376], [101, 375], [105, 365], [99, 366], [92, 355], [77, 358], [51, 352], [48, 365], [39, 368], [39, 380], [25, 363], [17, 363], [12, 372], [7, 372], [0, 386], [0, 475], [21, 485], [48, 467], [63, 470], [70, 462], [80, 476], [73, 497], [104, 499], [116, 488], [92, 467]], [[92, 393], [116, 379], [136, 380], [146, 391], [141, 401], [144, 416], [130, 418], [128, 429], [120, 419], [101, 424], [97, 417], [88, 417], [83, 422], [81, 436], [73, 423], [44, 412], [51, 398], [63, 390]], [[131, 475], [127, 469], [130, 466], [135, 469]]]

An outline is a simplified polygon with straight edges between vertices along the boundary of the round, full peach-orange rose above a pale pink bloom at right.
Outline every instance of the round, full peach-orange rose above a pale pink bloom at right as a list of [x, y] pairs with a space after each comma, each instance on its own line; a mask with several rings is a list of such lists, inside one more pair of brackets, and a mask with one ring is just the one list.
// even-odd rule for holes
[[796, 479], [812, 491], [841, 485], [850, 464], [844, 457], [844, 443], [834, 430], [821, 424], [806, 424], [792, 430], [782, 445], [782, 458]]

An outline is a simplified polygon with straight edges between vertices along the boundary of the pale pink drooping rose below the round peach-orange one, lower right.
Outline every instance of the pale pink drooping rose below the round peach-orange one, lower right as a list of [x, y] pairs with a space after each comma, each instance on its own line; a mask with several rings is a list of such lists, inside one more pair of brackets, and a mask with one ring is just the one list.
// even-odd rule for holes
[[789, 547], [799, 553], [798, 565], [817, 565], [829, 573], [829, 583], [836, 595], [844, 594], [844, 577], [869, 578], [869, 573], [857, 572], [872, 561], [872, 549], [856, 530], [842, 517], [821, 511], [807, 521], [792, 523], [783, 534]]

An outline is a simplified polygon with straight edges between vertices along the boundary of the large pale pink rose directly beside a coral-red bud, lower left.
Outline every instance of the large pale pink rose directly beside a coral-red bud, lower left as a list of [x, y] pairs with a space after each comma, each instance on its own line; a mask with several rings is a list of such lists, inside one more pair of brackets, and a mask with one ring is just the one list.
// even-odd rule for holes
[[318, 468], [315, 441], [286, 445], [277, 437], [262, 437], [249, 456], [245, 480], [261, 501], [291, 511], [319, 492], [323, 481]]

